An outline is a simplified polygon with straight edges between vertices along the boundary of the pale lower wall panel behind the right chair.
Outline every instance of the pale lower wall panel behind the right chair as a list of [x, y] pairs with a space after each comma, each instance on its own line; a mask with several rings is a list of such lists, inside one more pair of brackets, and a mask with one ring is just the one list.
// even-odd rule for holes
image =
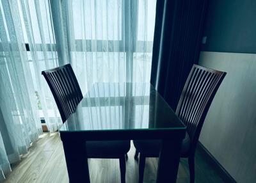
[[256, 182], [256, 54], [201, 52], [199, 65], [227, 72], [200, 142], [237, 182]]

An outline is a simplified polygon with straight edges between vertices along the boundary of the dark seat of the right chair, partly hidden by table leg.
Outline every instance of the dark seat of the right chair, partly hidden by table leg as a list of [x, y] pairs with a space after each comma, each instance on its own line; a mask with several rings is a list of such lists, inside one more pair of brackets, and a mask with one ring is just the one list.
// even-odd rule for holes
[[[134, 147], [138, 152], [145, 154], [148, 157], [158, 157], [160, 148], [161, 148], [161, 140], [159, 139], [150, 139], [150, 140], [134, 140]], [[182, 141], [181, 147], [181, 156], [185, 155], [190, 146], [190, 138], [188, 133], [186, 132], [186, 136]]]

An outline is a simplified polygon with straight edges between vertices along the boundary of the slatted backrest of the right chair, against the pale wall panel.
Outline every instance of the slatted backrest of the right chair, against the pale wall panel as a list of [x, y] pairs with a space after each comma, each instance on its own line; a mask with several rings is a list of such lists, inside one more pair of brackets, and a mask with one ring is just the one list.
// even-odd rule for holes
[[187, 127], [191, 141], [190, 150], [194, 152], [205, 116], [226, 74], [199, 65], [193, 65], [189, 73], [176, 114]]

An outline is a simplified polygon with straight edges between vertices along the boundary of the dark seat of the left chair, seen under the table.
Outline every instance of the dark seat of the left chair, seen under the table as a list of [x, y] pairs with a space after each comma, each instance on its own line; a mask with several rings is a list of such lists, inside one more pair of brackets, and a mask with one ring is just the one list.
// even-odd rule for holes
[[87, 156], [90, 158], [119, 158], [130, 150], [131, 142], [124, 141], [86, 141]]

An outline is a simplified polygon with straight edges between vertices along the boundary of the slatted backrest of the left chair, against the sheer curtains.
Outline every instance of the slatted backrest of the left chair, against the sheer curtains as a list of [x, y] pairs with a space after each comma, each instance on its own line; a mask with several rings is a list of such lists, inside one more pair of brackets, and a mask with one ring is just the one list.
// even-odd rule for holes
[[47, 81], [64, 123], [74, 113], [83, 94], [70, 64], [42, 71]]

